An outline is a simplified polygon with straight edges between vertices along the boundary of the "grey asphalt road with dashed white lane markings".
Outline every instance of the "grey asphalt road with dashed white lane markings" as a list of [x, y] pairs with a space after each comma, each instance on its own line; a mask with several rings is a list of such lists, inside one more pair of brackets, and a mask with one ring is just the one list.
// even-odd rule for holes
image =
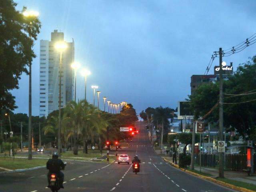
[[[119, 154], [141, 160], [140, 172], [132, 172], [131, 164], [68, 162], [64, 170], [63, 192], [229, 192], [234, 191], [202, 180], [173, 168], [156, 155], [143, 122], [140, 134]], [[0, 175], [0, 192], [49, 192], [45, 168]]]

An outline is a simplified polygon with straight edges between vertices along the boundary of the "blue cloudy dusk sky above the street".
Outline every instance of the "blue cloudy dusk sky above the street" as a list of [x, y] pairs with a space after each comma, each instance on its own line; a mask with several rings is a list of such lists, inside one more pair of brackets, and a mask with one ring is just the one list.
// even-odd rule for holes
[[[75, 42], [75, 60], [88, 68], [92, 84], [114, 103], [132, 103], [137, 113], [148, 106], [176, 108], [190, 94], [190, 77], [204, 74], [213, 51], [244, 41], [256, 32], [254, 0], [14, 0], [40, 13], [40, 40], [54, 29]], [[256, 54], [255, 46], [224, 58], [238, 64]], [[213, 63], [218, 64], [216, 59]], [[213, 74], [213, 68], [210, 73]], [[28, 113], [28, 76], [14, 90], [18, 109]], [[78, 76], [78, 98], [84, 98]], [[102, 106], [101, 100], [101, 106]], [[32, 66], [32, 114], [39, 114], [39, 58]]]

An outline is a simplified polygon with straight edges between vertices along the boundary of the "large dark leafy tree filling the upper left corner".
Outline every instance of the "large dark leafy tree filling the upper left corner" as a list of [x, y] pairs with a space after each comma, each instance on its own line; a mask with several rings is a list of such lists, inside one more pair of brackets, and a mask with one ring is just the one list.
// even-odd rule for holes
[[19, 88], [22, 72], [28, 74], [26, 66], [36, 57], [31, 47], [41, 27], [38, 18], [24, 18], [26, 7], [20, 12], [16, 6], [13, 0], [0, 3], [0, 109], [17, 108], [10, 90]]

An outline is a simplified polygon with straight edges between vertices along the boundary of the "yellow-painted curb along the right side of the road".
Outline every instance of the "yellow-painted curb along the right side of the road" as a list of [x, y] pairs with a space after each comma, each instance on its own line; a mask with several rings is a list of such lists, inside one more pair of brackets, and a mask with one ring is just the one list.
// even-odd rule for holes
[[199, 178], [202, 178], [202, 179], [205, 179], [205, 180], [208, 180], [208, 181], [211, 181], [211, 182], [214, 182], [214, 183], [217, 183], [219, 185], [222, 185], [222, 186], [225, 186], [225, 187], [228, 187], [228, 188], [231, 188], [231, 189], [234, 189], [234, 190], [237, 190], [237, 191], [240, 191], [240, 192], [256, 192], [256, 191], [253, 191], [253, 190], [250, 190], [250, 189], [246, 189], [246, 188], [242, 188], [242, 187], [238, 187], [238, 186], [234, 186], [232, 184], [228, 184], [228, 183], [225, 183], [223, 181], [219, 181], [219, 180], [216, 180], [214, 178], [211, 178], [211, 177], [207, 177], [207, 176], [203, 176], [203, 175], [200, 175], [200, 174], [197, 174], [197, 173], [194, 173], [192, 171], [189, 171], [189, 170], [185, 170], [184, 168], [180, 168], [178, 165], [170, 162], [169, 160], [166, 160], [166, 158], [163, 158], [164, 161], [170, 163], [171, 166], [174, 166], [188, 174], [191, 174], [191, 175], [194, 175], [194, 176], [197, 176]]

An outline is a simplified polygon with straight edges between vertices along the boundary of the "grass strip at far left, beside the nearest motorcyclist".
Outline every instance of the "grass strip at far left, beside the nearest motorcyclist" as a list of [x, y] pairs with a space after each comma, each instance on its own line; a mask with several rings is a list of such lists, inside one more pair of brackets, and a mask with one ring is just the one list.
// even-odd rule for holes
[[7, 168], [7, 169], [25, 169], [25, 168], [32, 168], [32, 167], [38, 167], [38, 166], [44, 166], [46, 165], [47, 159], [23, 159], [23, 158], [9, 158], [6, 157], [6, 160], [4, 157], [0, 157], [0, 166]]

